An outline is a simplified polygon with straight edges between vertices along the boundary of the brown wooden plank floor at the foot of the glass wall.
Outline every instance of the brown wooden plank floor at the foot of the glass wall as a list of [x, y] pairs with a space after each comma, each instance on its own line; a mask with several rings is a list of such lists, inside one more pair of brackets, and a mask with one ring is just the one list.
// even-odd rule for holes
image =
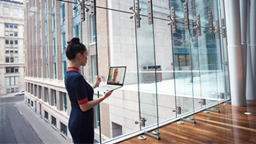
[[256, 143], [256, 101], [247, 101], [247, 107], [219, 104], [219, 111], [195, 114], [196, 124], [184, 121], [163, 126], [161, 140], [145, 135], [146, 140], [136, 136], [120, 143]]

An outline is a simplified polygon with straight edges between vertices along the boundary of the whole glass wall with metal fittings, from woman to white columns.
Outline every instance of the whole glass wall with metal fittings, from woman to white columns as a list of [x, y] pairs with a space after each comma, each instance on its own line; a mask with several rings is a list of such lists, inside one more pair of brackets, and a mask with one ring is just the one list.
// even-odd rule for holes
[[[149, 2], [152, 8], [148, 7]], [[84, 67], [84, 77], [92, 83], [95, 75], [102, 75], [102, 84], [106, 84], [110, 66], [127, 67], [124, 87], [95, 108], [96, 120], [107, 119], [100, 121], [100, 125], [95, 121], [95, 133], [100, 131], [101, 138], [97, 141], [158, 128], [162, 122], [218, 104], [220, 94], [229, 91], [223, 68], [226, 45], [221, 45], [223, 39], [216, 36], [220, 33], [218, 28], [209, 33], [208, 13], [212, 13], [212, 25], [216, 27], [219, 23], [220, 28], [222, 1], [149, 2], [85, 1], [94, 6], [94, 11], [85, 13], [82, 23], [83, 43], [90, 58]], [[175, 32], [167, 17], [172, 15], [172, 8]], [[150, 9], [152, 24], [148, 20]], [[139, 14], [139, 22], [134, 12]], [[199, 23], [197, 14], [201, 17]], [[100, 95], [95, 92], [95, 97]], [[146, 119], [144, 125], [136, 125], [142, 119]]]

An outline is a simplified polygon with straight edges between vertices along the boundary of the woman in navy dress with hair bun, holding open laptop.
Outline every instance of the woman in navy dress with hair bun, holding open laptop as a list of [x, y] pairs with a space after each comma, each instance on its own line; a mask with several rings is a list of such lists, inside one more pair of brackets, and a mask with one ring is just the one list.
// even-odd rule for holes
[[71, 101], [71, 114], [69, 116], [69, 131], [74, 143], [93, 143], [93, 107], [106, 99], [112, 91], [107, 91], [103, 97], [93, 100], [93, 89], [96, 88], [101, 79], [99, 75], [95, 84], [91, 87], [79, 73], [79, 67], [86, 65], [88, 51], [79, 38], [73, 38], [67, 42], [65, 50], [70, 60], [65, 76], [65, 87]]

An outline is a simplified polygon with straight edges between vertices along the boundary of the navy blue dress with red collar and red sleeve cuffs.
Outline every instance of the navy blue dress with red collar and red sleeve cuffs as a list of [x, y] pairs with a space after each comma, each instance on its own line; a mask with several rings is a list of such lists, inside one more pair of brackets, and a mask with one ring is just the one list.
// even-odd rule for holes
[[68, 67], [65, 86], [71, 101], [69, 131], [74, 143], [93, 143], [93, 108], [83, 112], [79, 105], [93, 100], [93, 88], [76, 67]]

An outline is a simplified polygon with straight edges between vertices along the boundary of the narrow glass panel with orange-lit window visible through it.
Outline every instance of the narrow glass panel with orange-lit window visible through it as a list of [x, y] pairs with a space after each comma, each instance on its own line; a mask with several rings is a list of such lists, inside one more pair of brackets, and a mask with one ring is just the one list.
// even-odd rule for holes
[[170, 6], [175, 7], [177, 19], [176, 33], [172, 33], [176, 102], [181, 110], [177, 114], [184, 114], [194, 110], [190, 30], [185, 30], [182, 1], [171, 1]]

